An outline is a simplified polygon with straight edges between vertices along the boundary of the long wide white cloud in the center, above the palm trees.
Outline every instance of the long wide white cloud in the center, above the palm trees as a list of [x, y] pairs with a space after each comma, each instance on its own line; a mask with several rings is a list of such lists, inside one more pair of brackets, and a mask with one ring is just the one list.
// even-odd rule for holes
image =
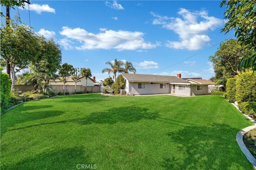
[[145, 42], [142, 38], [144, 33], [137, 31], [106, 30], [105, 32], [94, 34], [81, 28], [62, 27], [60, 34], [66, 36], [66, 39], [75, 39], [82, 43], [80, 47], [75, 47], [78, 50], [117, 49], [118, 51], [123, 51], [152, 49], [160, 45], [159, 42], [156, 42], [156, 44]]

